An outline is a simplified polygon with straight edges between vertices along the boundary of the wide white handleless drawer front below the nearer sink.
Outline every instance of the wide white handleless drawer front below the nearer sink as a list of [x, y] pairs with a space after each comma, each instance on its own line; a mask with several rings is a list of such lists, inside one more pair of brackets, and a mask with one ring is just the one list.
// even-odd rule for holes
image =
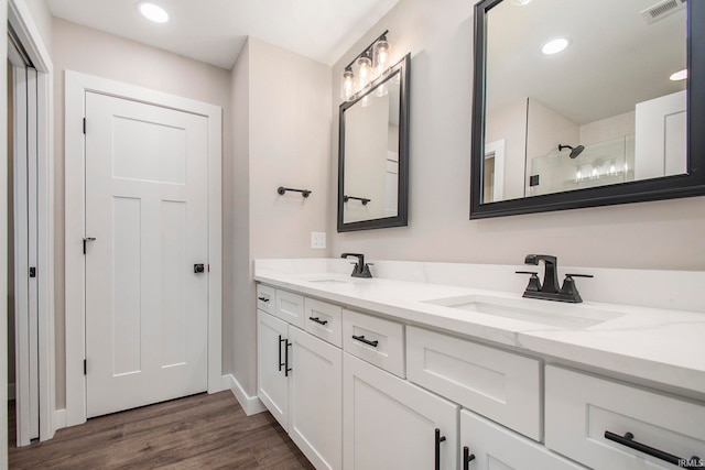
[[406, 327], [409, 380], [541, 440], [541, 361]]

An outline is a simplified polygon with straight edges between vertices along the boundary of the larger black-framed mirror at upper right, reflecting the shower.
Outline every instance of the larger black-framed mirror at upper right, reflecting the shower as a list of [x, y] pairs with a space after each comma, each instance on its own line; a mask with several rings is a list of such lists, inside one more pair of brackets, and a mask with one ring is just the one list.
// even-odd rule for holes
[[705, 195], [704, 1], [482, 0], [474, 78], [470, 219]]

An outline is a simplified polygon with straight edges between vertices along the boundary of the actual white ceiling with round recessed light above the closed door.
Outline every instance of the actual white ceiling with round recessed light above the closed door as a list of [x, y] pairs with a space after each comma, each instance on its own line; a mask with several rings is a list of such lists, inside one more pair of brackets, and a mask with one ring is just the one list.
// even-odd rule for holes
[[46, 0], [52, 15], [230, 69], [247, 36], [333, 65], [399, 0]]

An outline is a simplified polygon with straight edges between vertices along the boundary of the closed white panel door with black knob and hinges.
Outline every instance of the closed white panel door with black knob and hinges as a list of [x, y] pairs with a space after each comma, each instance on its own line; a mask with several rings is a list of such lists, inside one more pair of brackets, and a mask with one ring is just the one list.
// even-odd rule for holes
[[207, 389], [207, 119], [86, 94], [87, 416]]

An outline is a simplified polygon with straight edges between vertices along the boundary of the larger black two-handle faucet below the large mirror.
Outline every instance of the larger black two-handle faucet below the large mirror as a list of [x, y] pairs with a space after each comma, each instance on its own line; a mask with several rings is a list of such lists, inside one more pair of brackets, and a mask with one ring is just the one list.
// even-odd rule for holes
[[543, 261], [544, 264], [543, 283], [535, 271], [517, 271], [517, 274], [531, 274], [529, 285], [524, 289], [522, 297], [570, 302], [572, 304], [583, 302], [573, 277], [593, 277], [592, 274], [566, 274], [565, 280], [563, 280], [563, 286], [558, 288], [557, 258], [550, 254], [527, 254], [527, 258], [524, 258], [524, 264], [539, 265], [540, 261]]

